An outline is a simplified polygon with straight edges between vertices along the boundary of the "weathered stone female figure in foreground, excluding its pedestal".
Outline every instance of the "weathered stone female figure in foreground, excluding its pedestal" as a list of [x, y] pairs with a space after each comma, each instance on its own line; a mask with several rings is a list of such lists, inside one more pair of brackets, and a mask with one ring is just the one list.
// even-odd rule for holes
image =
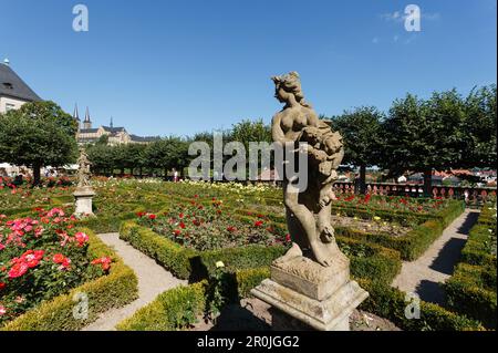
[[[307, 143], [295, 153], [308, 154], [308, 188], [300, 193], [283, 178], [283, 199], [287, 222], [293, 246], [279, 259], [293, 257], [312, 258], [329, 267], [334, 257], [344, 257], [335, 243], [331, 225], [331, 201], [334, 199], [332, 184], [338, 177], [336, 168], [344, 157], [342, 137], [332, 132], [329, 123], [319, 120], [312, 106], [304, 101], [297, 72], [272, 77], [276, 97], [284, 103], [272, 122], [273, 141], [281, 144]], [[300, 170], [300, 173], [303, 170]]]

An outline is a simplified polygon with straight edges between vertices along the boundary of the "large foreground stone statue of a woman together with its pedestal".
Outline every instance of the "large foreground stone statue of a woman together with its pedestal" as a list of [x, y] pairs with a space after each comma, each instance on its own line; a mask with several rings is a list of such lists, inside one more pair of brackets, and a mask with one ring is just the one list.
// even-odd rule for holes
[[[300, 76], [273, 76], [276, 98], [283, 103], [272, 122], [273, 141], [304, 154], [307, 170], [283, 176], [283, 203], [291, 249], [271, 266], [271, 279], [252, 290], [273, 307], [277, 330], [349, 330], [349, 316], [369, 295], [350, 280], [349, 259], [339, 249], [331, 225], [332, 184], [344, 157], [342, 137], [304, 101]], [[290, 163], [290, 160], [284, 160]], [[295, 178], [307, 178], [297, 188]]]

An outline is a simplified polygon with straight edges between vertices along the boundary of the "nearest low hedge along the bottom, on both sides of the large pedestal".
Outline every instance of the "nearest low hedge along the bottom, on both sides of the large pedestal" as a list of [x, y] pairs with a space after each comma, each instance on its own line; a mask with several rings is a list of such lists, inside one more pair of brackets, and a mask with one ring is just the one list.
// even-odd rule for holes
[[[234, 289], [240, 298], [250, 297], [250, 290], [270, 277], [268, 267], [235, 272]], [[436, 304], [421, 302], [421, 318], [406, 319], [408, 302], [397, 289], [369, 279], [355, 279], [370, 297], [360, 309], [386, 318], [408, 331], [476, 331], [484, 330], [479, 322], [449, 312]], [[196, 323], [207, 308], [207, 281], [179, 287], [159, 294], [152, 303], [132, 318], [117, 324], [121, 331], [174, 331]]]

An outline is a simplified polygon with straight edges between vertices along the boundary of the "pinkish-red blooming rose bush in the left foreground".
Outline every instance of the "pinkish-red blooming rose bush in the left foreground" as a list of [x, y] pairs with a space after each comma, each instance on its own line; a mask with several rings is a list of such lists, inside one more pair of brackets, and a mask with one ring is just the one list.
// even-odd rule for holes
[[93, 266], [89, 237], [64, 209], [37, 209], [32, 217], [0, 216], [0, 325], [43, 300], [104, 274]]

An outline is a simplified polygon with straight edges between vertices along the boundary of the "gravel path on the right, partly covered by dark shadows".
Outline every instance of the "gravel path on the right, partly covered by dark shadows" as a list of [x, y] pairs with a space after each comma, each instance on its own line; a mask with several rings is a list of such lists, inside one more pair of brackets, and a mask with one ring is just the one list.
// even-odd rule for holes
[[478, 217], [478, 211], [466, 209], [418, 259], [403, 262], [392, 285], [404, 292], [415, 292], [424, 301], [444, 304], [440, 283], [452, 277], [468, 232]]

